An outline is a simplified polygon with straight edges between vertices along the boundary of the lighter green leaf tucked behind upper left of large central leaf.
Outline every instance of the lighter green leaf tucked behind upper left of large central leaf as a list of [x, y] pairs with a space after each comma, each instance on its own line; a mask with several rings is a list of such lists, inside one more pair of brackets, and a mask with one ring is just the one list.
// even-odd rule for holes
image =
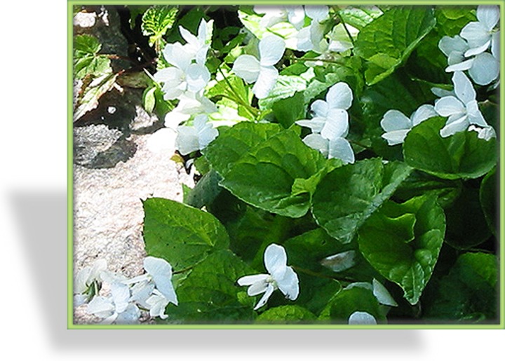
[[271, 123], [237, 123], [208, 145], [205, 156], [213, 169], [224, 176], [243, 155], [281, 130]]

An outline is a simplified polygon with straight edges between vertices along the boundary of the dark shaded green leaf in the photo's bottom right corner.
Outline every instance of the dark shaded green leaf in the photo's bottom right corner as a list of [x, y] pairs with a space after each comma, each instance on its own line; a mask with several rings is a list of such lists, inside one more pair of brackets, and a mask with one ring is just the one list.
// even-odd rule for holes
[[498, 260], [481, 252], [460, 255], [443, 277], [433, 299], [426, 301], [425, 317], [438, 322], [499, 322]]

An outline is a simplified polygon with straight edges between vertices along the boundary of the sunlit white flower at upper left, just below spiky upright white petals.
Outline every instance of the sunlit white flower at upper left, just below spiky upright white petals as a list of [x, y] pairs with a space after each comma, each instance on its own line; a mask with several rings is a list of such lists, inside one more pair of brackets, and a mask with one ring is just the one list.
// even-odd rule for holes
[[173, 64], [154, 74], [154, 80], [163, 83], [161, 90], [166, 100], [173, 100], [186, 91], [198, 93], [210, 80], [208, 69], [192, 62], [192, 56], [181, 43], [167, 44], [163, 49], [166, 61]]

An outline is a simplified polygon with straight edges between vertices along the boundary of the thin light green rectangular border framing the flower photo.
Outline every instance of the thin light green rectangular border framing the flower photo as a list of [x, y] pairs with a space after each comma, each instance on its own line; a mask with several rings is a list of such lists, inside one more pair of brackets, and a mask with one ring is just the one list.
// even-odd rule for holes
[[[493, 325], [450, 325], [450, 324], [424, 324], [424, 325], [75, 325], [74, 324], [74, 152], [73, 152], [73, 6], [76, 5], [447, 5], [447, 6], [477, 6], [498, 5], [500, 7], [500, 29], [505, 28], [505, 1], [504, 0], [431, 0], [431, 1], [406, 1], [406, 0], [348, 0], [318, 1], [318, 0], [67, 0], [67, 329], [505, 329], [505, 227], [503, 219], [499, 217], [499, 323]], [[505, 59], [505, 34], [500, 33], [500, 83], [505, 83], [503, 60]], [[505, 92], [500, 92], [500, 104], [505, 104]], [[505, 107], [500, 107], [499, 127], [499, 214], [505, 214]]]

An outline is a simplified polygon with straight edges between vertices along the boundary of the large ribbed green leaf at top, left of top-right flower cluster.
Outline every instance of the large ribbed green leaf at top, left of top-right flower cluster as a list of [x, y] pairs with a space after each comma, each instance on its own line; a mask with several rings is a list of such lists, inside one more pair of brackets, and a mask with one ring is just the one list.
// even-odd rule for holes
[[363, 27], [354, 50], [368, 61], [365, 71], [368, 85], [389, 76], [435, 25], [433, 8], [397, 6]]

